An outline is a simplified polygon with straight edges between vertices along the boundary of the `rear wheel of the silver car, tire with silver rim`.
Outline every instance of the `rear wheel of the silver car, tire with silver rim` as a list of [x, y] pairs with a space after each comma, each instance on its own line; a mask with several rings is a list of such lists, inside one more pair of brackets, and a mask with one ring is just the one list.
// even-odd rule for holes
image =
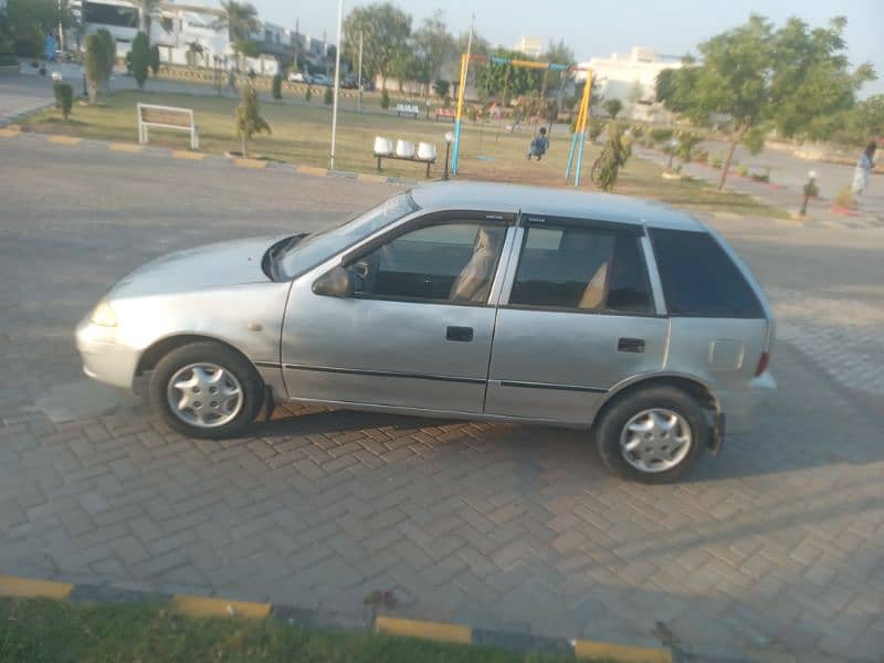
[[653, 484], [680, 480], [709, 440], [703, 409], [674, 387], [650, 387], [618, 398], [601, 412], [594, 430], [609, 470]]

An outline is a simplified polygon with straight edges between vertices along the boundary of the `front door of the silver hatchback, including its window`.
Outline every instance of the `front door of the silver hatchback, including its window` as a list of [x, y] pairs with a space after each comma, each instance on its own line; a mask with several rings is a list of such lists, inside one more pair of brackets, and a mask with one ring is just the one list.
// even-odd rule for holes
[[488, 301], [513, 222], [476, 212], [409, 221], [343, 257], [355, 284], [348, 297], [313, 292], [322, 270], [298, 278], [282, 337], [291, 398], [481, 412], [495, 318]]

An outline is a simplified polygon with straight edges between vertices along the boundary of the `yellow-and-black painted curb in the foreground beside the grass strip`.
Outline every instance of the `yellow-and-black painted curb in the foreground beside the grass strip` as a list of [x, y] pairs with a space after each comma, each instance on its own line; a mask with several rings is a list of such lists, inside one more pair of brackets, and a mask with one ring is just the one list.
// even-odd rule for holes
[[[73, 603], [120, 603], [151, 602], [168, 603], [175, 611], [188, 617], [240, 617], [245, 619], [273, 618], [291, 625], [319, 628], [349, 628], [335, 613], [320, 609], [303, 609], [291, 606], [275, 606], [252, 601], [238, 601], [220, 597], [199, 597], [193, 594], [166, 594], [148, 591], [120, 589], [109, 586], [72, 585], [54, 580], [18, 578], [0, 575], [0, 597], [69, 600]], [[593, 640], [567, 640], [525, 633], [509, 633], [474, 629], [464, 624], [372, 614], [365, 620], [365, 629], [376, 633], [400, 638], [417, 638], [434, 642], [456, 644], [477, 644], [494, 646], [515, 653], [539, 653], [582, 659], [630, 663], [672, 663], [670, 648], [633, 646]]]

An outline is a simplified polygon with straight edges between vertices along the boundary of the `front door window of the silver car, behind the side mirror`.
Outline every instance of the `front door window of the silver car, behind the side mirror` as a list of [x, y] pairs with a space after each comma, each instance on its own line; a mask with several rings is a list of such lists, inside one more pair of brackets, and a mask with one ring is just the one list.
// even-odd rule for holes
[[451, 221], [401, 234], [348, 270], [355, 296], [417, 302], [487, 302], [506, 227]]

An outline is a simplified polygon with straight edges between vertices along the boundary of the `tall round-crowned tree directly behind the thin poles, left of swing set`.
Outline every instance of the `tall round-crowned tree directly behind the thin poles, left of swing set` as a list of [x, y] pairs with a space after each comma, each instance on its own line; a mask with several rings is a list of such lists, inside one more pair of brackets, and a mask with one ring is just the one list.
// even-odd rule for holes
[[379, 75], [381, 90], [387, 90], [387, 78], [393, 66], [408, 53], [411, 17], [389, 2], [350, 10], [344, 20], [344, 43], [354, 61], [359, 56], [360, 33], [362, 67], [369, 75]]

